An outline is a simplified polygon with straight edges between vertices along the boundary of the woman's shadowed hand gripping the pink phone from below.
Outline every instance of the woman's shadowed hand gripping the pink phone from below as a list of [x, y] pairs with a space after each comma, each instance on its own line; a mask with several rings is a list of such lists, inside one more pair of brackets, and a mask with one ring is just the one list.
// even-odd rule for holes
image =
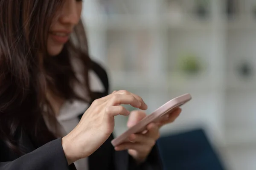
[[[148, 154], [154, 147], [157, 139], [160, 137], [159, 128], [168, 123], [174, 122], [181, 112], [180, 108], [177, 108], [172, 113], [167, 113], [162, 121], [158, 123], [150, 123], [147, 125], [147, 132], [140, 134], [132, 134], [129, 136], [131, 142], [126, 142], [115, 147], [115, 150], [128, 150], [128, 153], [138, 162], [145, 161]], [[146, 116], [143, 111], [132, 111], [127, 126], [131, 127]]]

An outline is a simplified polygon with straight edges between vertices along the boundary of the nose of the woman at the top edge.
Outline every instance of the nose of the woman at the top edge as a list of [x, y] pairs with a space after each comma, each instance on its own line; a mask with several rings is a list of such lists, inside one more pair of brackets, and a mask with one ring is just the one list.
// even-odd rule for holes
[[76, 0], [67, 0], [62, 8], [60, 22], [65, 25], [74, 26], [79, 23], [80, 14]]

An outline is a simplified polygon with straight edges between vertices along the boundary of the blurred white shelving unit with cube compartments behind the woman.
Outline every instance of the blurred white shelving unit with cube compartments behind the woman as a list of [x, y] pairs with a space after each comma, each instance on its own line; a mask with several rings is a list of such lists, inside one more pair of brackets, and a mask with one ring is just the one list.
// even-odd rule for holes
[[[144, 0], [143, 2], [147, 3], [148, 1]], [[163, 0], [156, 0], [155, 2], [159, 6], [164, 4]], [[249, 105], [253, 105], [255, 95], [250, 94], [249, 98], [248, 94], [256, 91], [256, 77], [243, 79], [236, 75], [235, 69], [233, 69], [239, 64], [239, 61], [235, 61], [236, 57], [255, 57], [253, 46], [255, 44], [255, 32], [253, 30], [256, 30], [256, 18], [241, 15], [234, 20], [226, 20], [221, 13], [223, 6], [217, 4], [221, 3], [221, 0], [212, 0], [211, 3], [215, 3], [215, 7], [212, 6], [212, 18], [208, 20], [197, 19], [194, 14], [170, 16], [164, 14], [165, 10], [163, 9], [160, 10], [162, 14], [154, 13], [151, 16], [148, 14], [144, 16], [97, 14], [91, 15], [92, 17], [85, 21], [89, 32], [96, 37], [94, 45], [98, 48], [94, 49], [95, 54], [99, 54], [105, 63], [113, 64], [114, 61], [126, 57], [123, 54], [116, 54], [116, 56], [108, 54], [106, 52], [108, 50], [105, 48], [108, 48], [109, 41], [117, 39], [120, 40], [120, 43], [125, 42], [126, 37], [123, 38], [122, 34], [127, 33], [127, 37], [129, 37], [134, 33], [133, 31], [137, 30], [139, 31], [134, 34], [134, 37], [143, 31], [148, 31], [148, 35], [152, 36], [151, 40], [154, 42], [152, 47], [145, 48], [149, 51], [148, 55], [145, 55], [146, 57], [143, 59], [140, 58], [140, 62], [129, 62], [135, 63], [134, 68], [140, 71], [123, 71], [126, 68], [132, 68], [126, 62], [127, 60], [122, 62], [121, 59], [119, 63], [123, 65], [117, 64], [118, 67], [108, 68], [110, 69], [108, 75], [112, 89], [131, 90], [144, 95], [143, 99], [149, 103], [150, 111], [177, 94], [183, 94], [183, 92], [192, 94], [191, 105], [184, 107], [183, 113], [175, 123], [163, 127], [161, 129], [162, 134], [206, 127], [207, 134], [211, 136], [212, 141], [222, 140], [229, 146], [256, 144], [256, 131], [254, 130], [256, 128], [251, 123], [253, 116], [244, 116], [245, 113], [240, 113], [239, 110], [239, 108], [246, 108], [248, 111]], [[163, 8], [165, 7], [163, 6]], [[145, 10], [148, 11], [148, 8]], [[109, 32], [111, 34], [108, 34]], [[116, 44], [116, 48], [119, 49], [119, 42]], [[133, 42], [125, 45], [131, 44], [134, 45]], [[124, 49], [126, 49], [125, 45], [123, 45]], [[198, 75], [182, 75], [166, 71], [169, 67], [176, 68], [177, 62], [175, 61], [178, 60], [173, 56], [179, 56], [180, 52], [183, 51], [198, 52], [198, 56], [201, 56], [202, 61], [205, 61], [204, 64], [207, 64], [206, 67], [209, 72]], [[130, 54], [129, 52], [124, 53]], [[135, 58], [131, 61], [136, 61], [136, 57], [138, 57], [136, 51], [130, 56]], [[111, 57], [114, 59], [109, 61], [108, 59]], [[144, 63], [144, 60], [149, 67], [140, 65], [140, 63]], [[253, 60], [249, 61], [254, 62]], [[253, 65], [256, 66], [255, 63]], [[230, 70], [226, 68], [230, 68]], [[111, 71], [111, 69], [117, 70]], [[229, 71], [232, 73], [230, 74]], [[230, 94], [232, 96], [229, 96]], [[233, 101], [237, 98], [242, 98], [242, 100]], [[240, 107], [238, 103], [242, 103], [242, 106]], [[248, 113], [254, 113], [253, 111], [255, 108], [250, 108]], [[244, 117], [240, 119], [241, 117], [237, 115]], [[127, 129], [126, 119], [119, 117], [116, 120], [116, 131], [121, 134]], [[246, 127], [248, 120], [252, 120], [249, 121], [252, 127]]]

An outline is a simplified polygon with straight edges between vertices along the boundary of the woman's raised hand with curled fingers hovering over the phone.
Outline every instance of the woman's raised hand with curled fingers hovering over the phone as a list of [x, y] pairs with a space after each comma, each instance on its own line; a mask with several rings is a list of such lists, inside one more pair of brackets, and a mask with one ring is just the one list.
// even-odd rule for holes
[[90, 156], [111, 135], [114, 129], [114, 116], [128, 116], [130, 113], [121, 104], [147, 109], [140, 96], [128, 91], [115, 91], [96, 99], [82, 116], [79, 124], [62, 138], [62, 146], [69, 164]]

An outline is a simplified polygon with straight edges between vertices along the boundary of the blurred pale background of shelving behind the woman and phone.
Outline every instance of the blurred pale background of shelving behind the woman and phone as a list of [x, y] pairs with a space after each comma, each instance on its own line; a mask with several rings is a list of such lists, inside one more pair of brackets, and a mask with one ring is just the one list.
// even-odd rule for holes
[[[107, 69], [111, 91], [142, 96], [147, 113], [190, 93], [179, 118], [161, 129], [163, 140], [179, 148], [176, 136], [200, 150], [200, 137], [184, 137], [199, 129], [224, 169], [256, 170], [256, 0], [84, 0], [83, 6], [90, 54]], [[116, 117], [116, 135], [126, 122]]]

